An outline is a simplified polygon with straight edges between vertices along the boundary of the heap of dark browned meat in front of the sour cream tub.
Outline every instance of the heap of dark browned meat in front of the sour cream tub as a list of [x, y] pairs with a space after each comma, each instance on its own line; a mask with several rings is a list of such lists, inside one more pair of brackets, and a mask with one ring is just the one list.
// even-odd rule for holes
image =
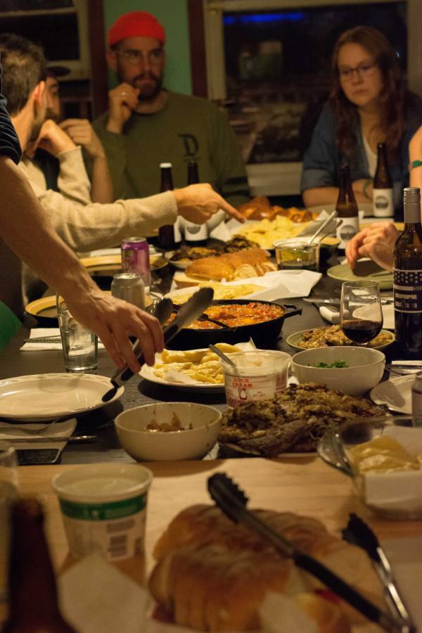
[[289, 385], [274, 399], [246, 402], [227, 411], [219, 443], [265, 457], [312, 452], [328, 428], [374, 416], [385, 416], [385, 411], [365, 398], [322, 384]]

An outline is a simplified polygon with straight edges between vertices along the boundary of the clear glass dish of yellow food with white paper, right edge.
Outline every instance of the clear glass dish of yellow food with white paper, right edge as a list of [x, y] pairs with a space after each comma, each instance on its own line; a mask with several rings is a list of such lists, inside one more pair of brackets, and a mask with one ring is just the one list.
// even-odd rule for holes
[[422, 428], [412, 426], [411, 418], [355, 419], [328, 430], [318, 453], [352, 478], [373, 513], [422, 519]]

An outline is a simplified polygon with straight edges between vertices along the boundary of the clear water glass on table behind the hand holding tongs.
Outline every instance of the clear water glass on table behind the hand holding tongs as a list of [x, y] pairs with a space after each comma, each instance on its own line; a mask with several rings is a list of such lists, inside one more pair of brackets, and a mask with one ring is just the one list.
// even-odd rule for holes
[[66, 371], [94, 373], [97, 369], [97, 335], [73, 318], [66, 302], [59, 295], [56, 302]]

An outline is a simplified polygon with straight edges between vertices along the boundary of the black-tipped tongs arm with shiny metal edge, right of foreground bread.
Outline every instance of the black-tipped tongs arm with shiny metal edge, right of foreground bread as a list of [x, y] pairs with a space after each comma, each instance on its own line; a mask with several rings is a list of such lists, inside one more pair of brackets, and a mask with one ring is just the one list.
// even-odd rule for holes
[[378, 542], [376, 535], [369, 528], [369, 525], [366, 525], [364, 520], [357, 514], [352, 513], [350, 514], [347, 527], [342, 530], [342, 534], [347, 542], [362, 547], [366, 551], [383, 585], [385, 601], [390, 612], [393, 616], [397, 615], [403, 624], [407, 624], [409, 631], [415, 631], [416, 629], [397, 587], [390, 561], [388, 561], [385, 551]]

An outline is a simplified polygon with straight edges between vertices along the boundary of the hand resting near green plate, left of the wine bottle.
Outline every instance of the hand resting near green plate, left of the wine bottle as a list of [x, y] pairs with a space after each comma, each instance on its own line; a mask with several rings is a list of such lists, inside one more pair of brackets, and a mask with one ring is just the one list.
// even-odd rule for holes
[[360, 257], [370, 257], [382, 268], [392, 270], [392, 250], [398, 236], [392, 222], [375, 222], [359, 231], [346, 246], [350, 268], [354, 268]]

